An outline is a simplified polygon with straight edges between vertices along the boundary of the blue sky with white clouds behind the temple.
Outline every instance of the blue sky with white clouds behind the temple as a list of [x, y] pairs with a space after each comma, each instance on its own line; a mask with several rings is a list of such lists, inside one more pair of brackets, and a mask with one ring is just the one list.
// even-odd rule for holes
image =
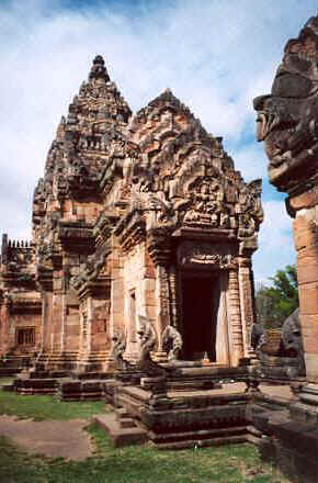
[[263, 178], [255, 280], [293, 263], [292, 220], [266, 181], [252, 99], [270, 92], [285, 43], [317, 11], [317, 0], [2, 0], [0, 231], [30, 237], [56, 126], [101, 54], [134, 111], [170, 87], [224, 136], [246, 180]]

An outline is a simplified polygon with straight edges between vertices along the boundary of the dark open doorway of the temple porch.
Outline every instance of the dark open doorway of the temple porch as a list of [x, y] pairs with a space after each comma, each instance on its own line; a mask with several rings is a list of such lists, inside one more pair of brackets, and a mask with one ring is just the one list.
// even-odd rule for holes
[[212, 277], [182, 278], [183, 358], [216, 361], [216, 307]]

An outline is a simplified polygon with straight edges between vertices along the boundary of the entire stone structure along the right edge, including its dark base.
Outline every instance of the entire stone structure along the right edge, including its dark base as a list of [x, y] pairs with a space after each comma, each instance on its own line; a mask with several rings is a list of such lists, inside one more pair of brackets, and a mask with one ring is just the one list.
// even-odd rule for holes
[[[288, 413], [269, 412], [265, 458], [294, 482], [318, 481], [318, 15], [287, 42], [272, 92], [254, 99], [270, 182], [286, 192], [294, 218], [306, 381]], [[258, 426], [258, 423], [255, 423]]]

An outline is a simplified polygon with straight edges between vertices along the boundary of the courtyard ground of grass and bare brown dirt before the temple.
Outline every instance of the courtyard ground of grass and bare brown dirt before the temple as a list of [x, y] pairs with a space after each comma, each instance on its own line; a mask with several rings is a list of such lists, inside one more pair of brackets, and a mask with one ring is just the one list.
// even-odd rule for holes
[[[0, 385], [8, 380], [0, 380]], [[241, 391], [226, 384], [226, 392]], [[291, 397], [288, 387], [263, 392]], [[113, 448], [92, 417], [103, 402], [59, 403], [52, 396], [0, 391], [1, 483], [288, 483], [261, 462], [252, 445], [159, 451], [150, 445]]]

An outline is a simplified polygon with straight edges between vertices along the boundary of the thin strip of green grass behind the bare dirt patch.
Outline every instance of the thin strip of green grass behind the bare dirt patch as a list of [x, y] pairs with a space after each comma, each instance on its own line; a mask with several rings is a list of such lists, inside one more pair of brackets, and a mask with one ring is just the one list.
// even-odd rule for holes
[[88, 419], [94, 414], [105, 412], [105, 403], [102, 401], [59, 403], [53, 396], [22, 396], [0, 390], [0, 414], [19, 418], [34, 420]]

